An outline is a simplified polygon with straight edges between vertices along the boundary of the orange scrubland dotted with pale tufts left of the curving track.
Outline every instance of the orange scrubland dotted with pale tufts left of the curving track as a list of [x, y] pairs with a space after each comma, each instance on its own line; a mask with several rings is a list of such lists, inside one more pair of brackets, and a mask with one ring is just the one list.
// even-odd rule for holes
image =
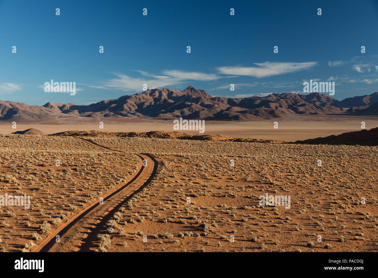
[[1, 195], [30, 196], [28, 209], [0, 207], [0, 248], [5, 252], [38, 244], [140, 167], [136, 156], [125, 161], [119, 152], [76, 138], [3, 135], [0, 142]]

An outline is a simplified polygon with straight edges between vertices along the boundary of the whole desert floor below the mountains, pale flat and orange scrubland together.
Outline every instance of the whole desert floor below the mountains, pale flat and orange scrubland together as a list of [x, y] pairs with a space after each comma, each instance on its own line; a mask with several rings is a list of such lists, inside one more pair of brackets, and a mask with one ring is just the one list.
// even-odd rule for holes
[[[361, 130], [361, 117], [301, 119], [283, 119], [282, 130], [269, 120], [209, 125], [205, 133], [276, 143], [5, 130], [1, 194], [30, 196], [30, 208], [0, 207], [0, 250], [375, 252], [377, 146], [281, 143]], [[367, 129], [378, 126], [374, 117], [363, 120]], [[84, 130], [66, 124], [32, 127]], [[154, 121], [138, 130], [128, 124], [105, 122], [101, 132], [157, 129]], [[262, 204], [266, 194], [290, 196], [290, 205]]]

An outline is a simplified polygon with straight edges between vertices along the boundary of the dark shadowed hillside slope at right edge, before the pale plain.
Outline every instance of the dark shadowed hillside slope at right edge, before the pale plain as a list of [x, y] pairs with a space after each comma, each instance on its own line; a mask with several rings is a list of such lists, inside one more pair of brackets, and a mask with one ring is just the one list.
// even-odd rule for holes
[[332, 144], [332, 145], [361, 145], [377, 146], [378, 145], [378, 127], [370, 130], [360, 130], [346, 132], [340, 135], [331, 135], [327, 137], [318, 137], [304, 141], [296, 141], [295, 144]]

